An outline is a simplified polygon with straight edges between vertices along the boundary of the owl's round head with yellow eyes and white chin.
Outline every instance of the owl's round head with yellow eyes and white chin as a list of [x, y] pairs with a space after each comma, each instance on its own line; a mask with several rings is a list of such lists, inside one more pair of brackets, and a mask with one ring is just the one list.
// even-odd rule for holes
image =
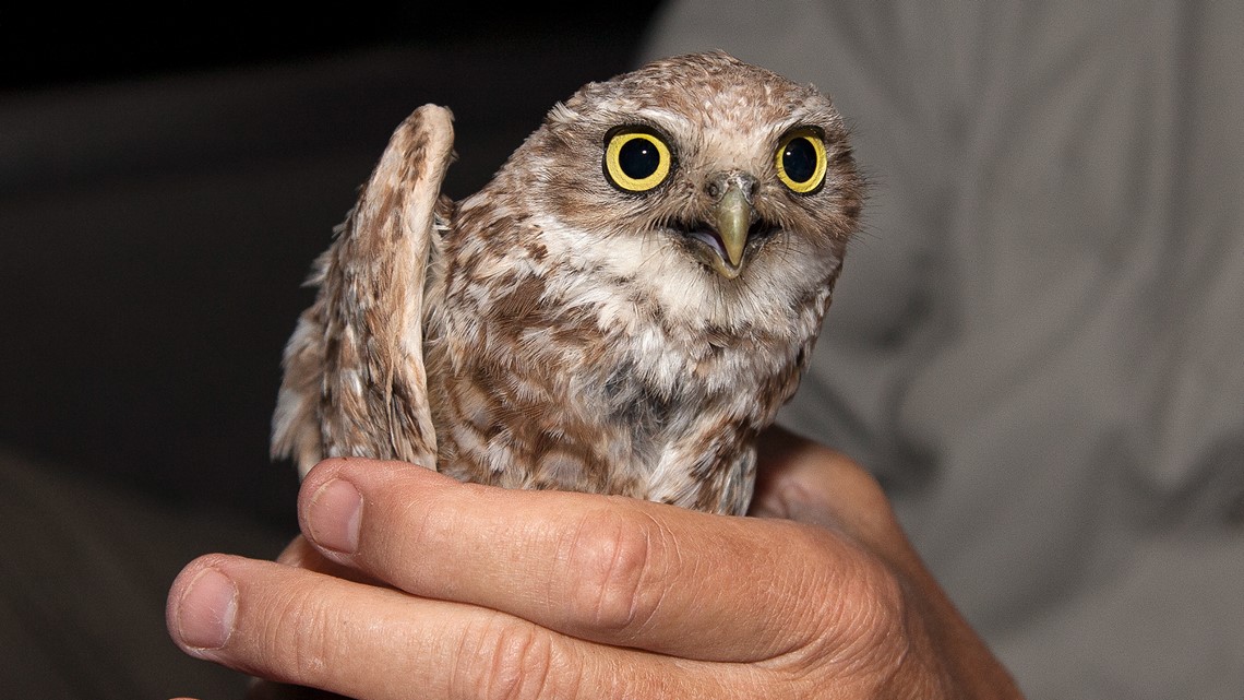
[[688, 318], [832, 284], [862, 199], [829, 98], [724, 54], [585, 86], [499, 179], [546, 245]]

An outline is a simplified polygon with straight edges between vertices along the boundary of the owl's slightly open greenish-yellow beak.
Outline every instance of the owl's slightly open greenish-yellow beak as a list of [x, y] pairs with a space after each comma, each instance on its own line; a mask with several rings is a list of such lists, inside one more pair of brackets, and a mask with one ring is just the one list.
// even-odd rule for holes
[[725, 279], [743, 273], [746, 263], [748, 242], [769, 233], [770, 227], [759, 220], [751, 206], [755, 178], [731, 173], [708, 186], [715, 196], [708, 220], [685, 227], [682, 233], [692, 242], [692, 249], [702, 263], [717, 270]]

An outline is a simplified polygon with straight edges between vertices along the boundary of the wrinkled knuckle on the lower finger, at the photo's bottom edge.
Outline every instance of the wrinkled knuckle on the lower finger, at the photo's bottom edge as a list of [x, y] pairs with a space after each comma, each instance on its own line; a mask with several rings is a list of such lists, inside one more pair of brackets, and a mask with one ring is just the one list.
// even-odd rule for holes
[[450, 696], [527, 700], [572, 696], [554, 688], [554, 644], [536, 627], [501, 614], [466, 628], [454, 656]]

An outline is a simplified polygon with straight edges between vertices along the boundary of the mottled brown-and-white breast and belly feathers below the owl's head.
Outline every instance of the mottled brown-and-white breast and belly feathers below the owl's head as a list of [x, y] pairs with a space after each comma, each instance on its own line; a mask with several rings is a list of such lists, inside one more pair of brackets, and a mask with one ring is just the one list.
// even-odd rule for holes
[[820, 320], [680, 324], [643, 280], [539, 244], [455, 257], [434, 284], [424, 346], [442, 468], [511, 487], [654, 497], [646, 481], [669, 483], [671, 468], [750, 467], [746, 443]]

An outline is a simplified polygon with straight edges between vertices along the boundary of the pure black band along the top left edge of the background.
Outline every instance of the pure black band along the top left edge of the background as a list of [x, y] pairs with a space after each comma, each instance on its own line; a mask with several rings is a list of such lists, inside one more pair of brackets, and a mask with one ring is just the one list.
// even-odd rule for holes
[[[0, 7], [0, 59], [5, 90], [83, 85], [134, 77], [175, 77], [188, 71], [320, 60], [358, 50], [442, 47], [486, 41], [499, 49], [540, 37], [556, 44], [590, 41], [601, 51], [629, 49], [659, 2], [624, 7], [552, 4], [408, 2], [392, 7], [300, 7], [265, 14], [251, 7], [204, 6], [198, 14], [156, 7], [12, 2]], [[270, 12], [270, 11], [269, 11]], [[591, 52], [570, 60], [597, 59]], [[510, 59], [521, 62], [519, 54]], [[582, 66], [590, 70], [590, 65]], [[534, 83], [540, 82], [534, 75]]]

